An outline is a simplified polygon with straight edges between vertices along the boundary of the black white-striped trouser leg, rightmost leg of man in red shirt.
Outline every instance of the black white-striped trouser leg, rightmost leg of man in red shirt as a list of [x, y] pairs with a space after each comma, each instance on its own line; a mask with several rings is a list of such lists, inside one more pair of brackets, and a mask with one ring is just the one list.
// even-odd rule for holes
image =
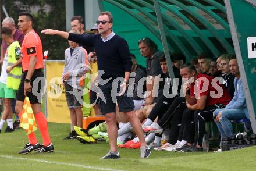
[[213, 121], [213, 112], [215, 109], [224, 108], [223, 104], [215, 104], [205, 107], [203, 110], [194, 112], [195, 121], [195, 144], [202, 146], [202, 138], [205, 133], [205, 121]]

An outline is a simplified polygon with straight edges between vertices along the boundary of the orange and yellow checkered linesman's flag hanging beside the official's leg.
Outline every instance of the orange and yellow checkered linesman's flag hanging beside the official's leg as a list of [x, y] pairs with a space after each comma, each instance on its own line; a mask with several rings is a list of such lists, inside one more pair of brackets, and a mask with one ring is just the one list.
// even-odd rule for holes
[[25, 98], [23, 104], [22, 116], [20, 117], [20, 127], [26, 130], [27, 135], [37, 130], [37, 123], [35, 122], [35, 117], [31, 108], [29, 97]]

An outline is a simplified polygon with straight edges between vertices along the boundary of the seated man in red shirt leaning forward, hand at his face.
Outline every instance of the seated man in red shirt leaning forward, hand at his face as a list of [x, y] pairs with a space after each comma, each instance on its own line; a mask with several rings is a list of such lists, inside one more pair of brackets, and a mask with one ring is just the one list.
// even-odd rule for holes
[[[183, 79], [189, 79], [183, 85], [187, 106], [183, 113], [183, 123], [190, 147], [182, 149], [182, 152], [202, 151], [205, 121], [214, 120], [212, 112], [218, 108], [225, 108], [231, 97], [217, 78], [197, 73], [192, 65], [181, 66], [180, 75]], [[195, 145], [192, 145], [194, 135]]]

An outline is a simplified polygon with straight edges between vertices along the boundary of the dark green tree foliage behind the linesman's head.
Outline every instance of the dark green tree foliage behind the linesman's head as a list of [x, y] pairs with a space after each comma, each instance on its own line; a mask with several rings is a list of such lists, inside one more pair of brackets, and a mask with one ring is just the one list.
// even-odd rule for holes
[[41, 34], [41, 30], [66, 30], [65, 0], [3, 0], [3, 5], [16, 24], [20, 12], [31, 12], [34, 17], [33, 29], [40, 35], [44, 51], [48, 50], [47, 59], [64, 59], [67, 41], [61, 37]]

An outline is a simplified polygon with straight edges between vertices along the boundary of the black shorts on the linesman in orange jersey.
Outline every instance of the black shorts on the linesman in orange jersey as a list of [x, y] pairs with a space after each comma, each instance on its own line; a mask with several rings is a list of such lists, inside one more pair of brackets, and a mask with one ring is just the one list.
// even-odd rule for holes
[[[20, 81], [19, 89], [17, 90], [16, 100], [24, 102], [24, 80], [26, 79], [27, 72], [22, 74], [22, 79]], [[42, 94], [45, 86], [44, 74], [41, 69], [36, 69], [31, 77], [30, 84], [32, 86], [32, 91], [27, 93], [29, 101], [31, 104], [41, 104]]]

